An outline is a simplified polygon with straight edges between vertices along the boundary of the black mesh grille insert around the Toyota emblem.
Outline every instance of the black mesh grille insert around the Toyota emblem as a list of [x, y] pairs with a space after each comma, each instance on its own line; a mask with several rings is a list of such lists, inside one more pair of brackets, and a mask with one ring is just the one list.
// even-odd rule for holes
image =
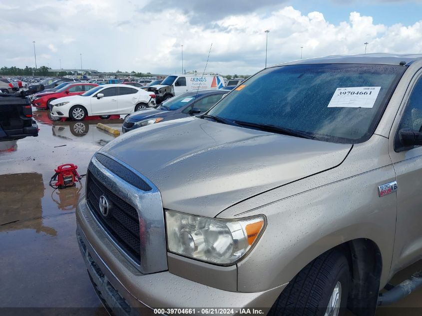
[[[89, 167], [96, 168], [92, 164]], [[139, 217], [135, 208], [105, 187], [89, 169], [86, 176], [86, 188], [86, 201], [92, 214], [120, 248], [140, 264]], [[109, 203], [109, 213], [106, 217], [99, 209], [101, 195], [104, 195]]]

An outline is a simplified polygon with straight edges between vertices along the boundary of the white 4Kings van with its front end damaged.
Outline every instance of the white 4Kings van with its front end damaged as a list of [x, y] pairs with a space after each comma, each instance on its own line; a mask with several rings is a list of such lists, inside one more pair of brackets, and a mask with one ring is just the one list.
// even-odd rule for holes
[[180, 74], [167, 76], [161, 84], [148, 87], [148, 91], [156, 95], [159, 104], [173, 96], [196, 89], [220, 89], [224, 87], [224, 79], [219, 75]]

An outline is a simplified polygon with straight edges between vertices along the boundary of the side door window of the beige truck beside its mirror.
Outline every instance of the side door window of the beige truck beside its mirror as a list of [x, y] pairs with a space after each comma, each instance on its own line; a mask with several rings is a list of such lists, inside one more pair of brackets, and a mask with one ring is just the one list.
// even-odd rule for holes
[[[422, 132], [422, 77], [418, 79], [409, 97], [398, 131], [401, 129]], [[394, 147], [396, 151], [403, 150], [397, 135]]]

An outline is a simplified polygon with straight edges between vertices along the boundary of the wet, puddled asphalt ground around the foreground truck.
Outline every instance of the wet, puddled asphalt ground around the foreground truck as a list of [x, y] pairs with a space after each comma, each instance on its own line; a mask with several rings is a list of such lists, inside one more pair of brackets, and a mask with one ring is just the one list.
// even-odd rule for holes
[[[120, 130], [122, 119], [54, 122], [35, 110], [38, 137], [0, 142], [0, 314], [107, 315], [90, 284], [75, 237], [75, 207], [84, 179], [74, 188], [48, 186], [54, 168], [73, 163], [85, 174], [95, 151], [115, 138], [99, 122]], [[422, 262], [398, 273], [398, 284]], [[7, 312], [7, 313], [6, 313]], [[43, 310], [42, 315], [48, 315]], [[352, 315], [352, 314], [348, 314]], [[422, 289], [377, 316], [422, 315]]]

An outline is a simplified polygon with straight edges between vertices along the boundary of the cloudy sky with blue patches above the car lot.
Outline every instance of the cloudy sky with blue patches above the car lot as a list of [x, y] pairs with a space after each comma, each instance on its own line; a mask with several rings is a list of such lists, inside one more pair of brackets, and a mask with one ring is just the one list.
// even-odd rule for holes
[[252, 74], [303, 57], [422, 53], [422, 0], [0, 0], [0, 66]]

